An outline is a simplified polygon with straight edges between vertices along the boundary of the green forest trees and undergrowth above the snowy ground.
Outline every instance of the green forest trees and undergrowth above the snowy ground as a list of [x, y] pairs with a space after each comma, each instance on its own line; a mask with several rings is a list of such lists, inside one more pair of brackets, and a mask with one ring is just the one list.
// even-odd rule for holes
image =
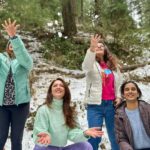
[[[81, 69], [95, 33], [123, 65], [149, 63], [139, 59], [150, 48], [149, 0], [1, 0], [0, 24], [7, 18], [21, 25], [19, 34], [35, 36], [43, 56], [60, 66]], [[1, 27], [0, 50], [5, 38]]]

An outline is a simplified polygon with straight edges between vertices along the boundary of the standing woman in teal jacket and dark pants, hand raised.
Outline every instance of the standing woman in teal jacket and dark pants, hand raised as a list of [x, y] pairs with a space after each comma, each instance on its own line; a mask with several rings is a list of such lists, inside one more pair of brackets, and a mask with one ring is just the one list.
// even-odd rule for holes
[[0, 150], [11, 127], [11, 150], [22, 150], [25, 121], [29, 113], [29, 72], [33, 62], [16, 35], [16, 21], [2, 25], [10, 37], [6, 52], [0, 53]]

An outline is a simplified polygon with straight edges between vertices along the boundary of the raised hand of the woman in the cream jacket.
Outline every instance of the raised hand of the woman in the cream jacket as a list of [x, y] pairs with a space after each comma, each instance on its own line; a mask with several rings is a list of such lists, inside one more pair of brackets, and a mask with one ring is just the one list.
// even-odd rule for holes
[[90, 50], [92, 52], [95, 52], [96, 51], [96, 48], [97, 48], [97, 44], [98, 42], [100, 41], [101, 39], [101, 36], [96, 34], [94, 36], [91, 37], [91, 44], [90, 44]]

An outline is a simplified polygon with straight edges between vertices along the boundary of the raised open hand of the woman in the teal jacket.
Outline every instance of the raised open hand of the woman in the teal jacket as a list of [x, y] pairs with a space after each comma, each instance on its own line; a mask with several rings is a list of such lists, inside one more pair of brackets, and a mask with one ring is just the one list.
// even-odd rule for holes
[[5, 20], [4, 23], [2, 24], [3, 28], [7, 32], [7, 34], [10, 37], [13, 37], [16, 35], [17, 28], [20, 26], [19, 24], [16, 24], [16, 20], [13, 22], [9, 18], [8, 20]]

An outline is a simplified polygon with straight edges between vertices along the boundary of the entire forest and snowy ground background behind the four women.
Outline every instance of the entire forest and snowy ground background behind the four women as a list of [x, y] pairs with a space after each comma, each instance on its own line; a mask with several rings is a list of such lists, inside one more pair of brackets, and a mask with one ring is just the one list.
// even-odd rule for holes
[[[18, 34], [34, 61], [23, 150], [33, 150], [37, 108], [45, 101], [50, 81], [58, 76], [69, 83], [72, 102], [81, 126], [84, 124], [85, 74], [81, 63], [95, 33], [102, 35], [119, 58], [123, 75], [137, 81], [143, 100], [150, 103], [149, 0], [0, 0], [0, 24], [8, 18], [20, 24]], [[5, 50], [8, 38], [1, 26], [0, 52]], [[8, 138], [5, 148], [10, 147]], [[107, 134], [100, 147], [111, 149]]]

